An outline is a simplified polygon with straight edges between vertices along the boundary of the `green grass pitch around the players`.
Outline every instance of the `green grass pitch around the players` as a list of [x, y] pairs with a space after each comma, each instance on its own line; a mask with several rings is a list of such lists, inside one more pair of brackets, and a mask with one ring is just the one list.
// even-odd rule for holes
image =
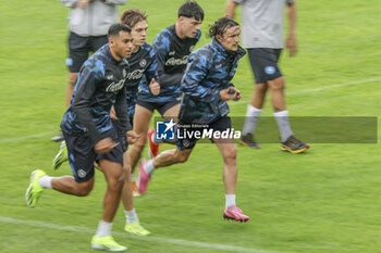
[[[146, 10], [151, 42], [175, 23], [182, 2], [130, 0], [120, 11]], [[198, 47], [210, 41], [208, 24], [224, 14], [224, 0], [199, 3], [206, 18]], [[380, 115], [380, 12], [379, 0], [298, 1], [299, 53], [281, 58], [292, 116]], [[33, 169], [71, 173], [67, 164], [52, 170], [59, 144], [50, 141], [64, 112], [67, 13], [59, 1], [0, 5], [0, 252], [94, 252], [90, 238], [106, 188], [101, 173], [87, 198], [47, 190], [36, 208], [24, 200]], [[231, 116], [244, 116], [253, 90], [246, 56], [233, 83], [244, 102], [231, 103]], [[270, 100], [263, 115], [272, 115]], [[250, 216], [239, 224], [222, 219], [218, 149], [198, 144], [187, 163], [160, 168], [148, 194], [134, 199], [152, 235], [124, 232], [120, 207], [115, 239], [130, 252], [381, 252], [380, 153], [377, 143], [311, 143], [300, 155], [282, 153], [276, 143], [238, 146], [237, 204]]]

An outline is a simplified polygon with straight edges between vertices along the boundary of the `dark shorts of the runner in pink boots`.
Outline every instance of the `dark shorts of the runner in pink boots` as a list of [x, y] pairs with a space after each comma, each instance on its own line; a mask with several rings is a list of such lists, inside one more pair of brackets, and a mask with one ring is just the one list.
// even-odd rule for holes
[[[230, 129], [232, 128], [232, 121], [229, 116], [224, 116], [224, 117], [221, 117], [212, 123], [209, 123], [209, 124], [206, 124], [208, 125], [207, 127], [187, 127], [189, 125], [193, 125], [192, 123], [183, 123], [183, 122], [179, 122], [177, 124], [177, 132], [180, 134], [180, 136], [184, 137], [184, 131], [186, 129], [186, 131], [189, 131], [190, 129], [192, 130], [198, 130], [200, 132], [204, 131], [204, 129], [207, 129], [207, 130], [210, 130], [210, 129], [213, 129], [213, 131], [224, 131], [226, 129]], [[193, 149], [195, 148], [197, 141], [199, 139], [198, 138], [176, 138], [176, 147], [180, 149], [180, 150], [184, 150], [184, 149]], [[213, 140], [211, 140], [213, 142]]]

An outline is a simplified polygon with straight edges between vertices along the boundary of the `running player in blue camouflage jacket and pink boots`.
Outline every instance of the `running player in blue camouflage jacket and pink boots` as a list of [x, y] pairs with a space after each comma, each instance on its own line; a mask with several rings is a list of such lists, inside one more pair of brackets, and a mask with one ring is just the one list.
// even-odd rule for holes
[[[183, 125], [206, 124], [204, 130], [225, 131], [232, 129], [228, 116], [226, 101], [241, 99], [231, 79], [237, 68], [238, 60], [245, 50], [238, 46], [239, 25], [233, 18], [221, 17], [210, 27], [213, 37], [211, 43], [190, 54], [182, 80], [183, 99], [179, 114], [179, 131], [184, 137]], [[192, 128], [190, 128], [192, 130]], [[236, 147], [234, 139], [212, 138], [223, 157], [223, 181], [225, 185], [225, 210], [223, 216], [236, 222], [247, 222], [248, 216], [235, 204], [237, 180]], [[177, 135], [176, 149], [160, 153], [153, 160], [142, 163], [139, 169], [139, 189], [146, 192], [147, 184], [155, 169], [176, 163], [184, 163], [189, 157], [196, 138]]]

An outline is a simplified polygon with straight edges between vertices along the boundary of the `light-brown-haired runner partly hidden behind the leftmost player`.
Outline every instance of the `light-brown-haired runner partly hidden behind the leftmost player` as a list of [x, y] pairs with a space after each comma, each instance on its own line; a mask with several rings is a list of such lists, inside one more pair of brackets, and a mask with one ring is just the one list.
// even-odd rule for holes
[[[140, 79], [145, 76], [149, 80], [149, 86], [146, 88], [149, 89], [152, 96], [159, 94], [160, 85], [156, 81], [158, 79], [158, 73], [155, 52], [146, 42], [148, 29], [147, 15], [137, 9], [126, 10], [122, 13], [121, 23], [131, 27], [134, 43], [132, 55], [128, 59], [130, 73], [125, 83], [128, 117], [133, 122]], [[143, 84], [143, 86], [146, 86], [146, 84]], [[119, 125], [118, 121], [115, 124]], [[122, 190], [122, 203], [126, 216], [124, 229], [137, 236], [147, 236], [150, 232], [140, 225], [133, 204], [132, 169], [126, 149], [123, 155], [126, 160], [124, 163], [126, 175]]]

